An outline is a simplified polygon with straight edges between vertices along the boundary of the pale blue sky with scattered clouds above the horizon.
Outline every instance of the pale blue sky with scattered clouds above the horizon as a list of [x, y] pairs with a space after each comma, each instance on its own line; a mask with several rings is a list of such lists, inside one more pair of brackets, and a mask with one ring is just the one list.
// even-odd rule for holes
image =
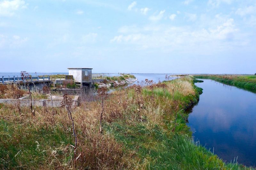
[[256, 73], [255, 0], [0, 0], [0, 72]]

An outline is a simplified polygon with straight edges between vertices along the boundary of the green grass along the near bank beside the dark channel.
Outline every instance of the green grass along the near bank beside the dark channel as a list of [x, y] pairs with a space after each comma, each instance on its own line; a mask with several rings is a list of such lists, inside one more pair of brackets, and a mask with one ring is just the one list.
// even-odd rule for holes
[[[168, 82], [166, 82], [168, 83]], [[187, 108], [199, 100], [202, 88], [194, 86], [195, 95], [182, 96], [175, 92], [172, 96], [161, 88], [156, 88], [157, 98], [182, 101], [180, 108]], [[151, 95], [152, 91], [143, 89], [143, 95]], [[237, 163], [224, 163], [217, 155], [198, 145], [191, 139], [192, 132], [186, 125], [188, 114], [179, 112], [174, 132], [172, 118], [167, 114], [163, 120], [165, 126], [155, 124], [149, 128], [147, 121], [129, 125], [118, 121], [106, 125], [107, 133], [113, 133], [116, 140], [123, 143], [127, 150], [136, 153], [139, 169], [243, 169]]]

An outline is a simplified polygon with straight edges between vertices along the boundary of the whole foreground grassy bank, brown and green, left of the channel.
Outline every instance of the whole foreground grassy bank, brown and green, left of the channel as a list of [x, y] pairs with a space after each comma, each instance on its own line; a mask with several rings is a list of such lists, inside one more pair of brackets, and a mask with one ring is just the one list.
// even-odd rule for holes
[[184, 109], [196, 103], [200, 93], [192, 77], [183, 77], [81, 101], [70, 108], [78, 138], [76, 155], [66, 108], [37, 107], [32, 123], [29, 108], [21, 108], [19, 114], [15, 106], [1, 105], [0, 167], [245, 169], [223, 163], [191, 139]]

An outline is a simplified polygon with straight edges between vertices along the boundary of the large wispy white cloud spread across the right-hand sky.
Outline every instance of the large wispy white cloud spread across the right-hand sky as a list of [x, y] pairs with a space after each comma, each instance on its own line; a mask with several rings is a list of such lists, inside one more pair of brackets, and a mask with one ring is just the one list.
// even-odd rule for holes
[[[114, 36], [110, 42], [129, 44], [131, 48], [170, 50], [194, 50], [201, 53], [205, 50], [206, 54], [214, 50], [227, 50], [243, 46], [246, 38], [242, 37], [239, 29], [236, 28], [233, 18], [220, 17], [213, 18], [209, 23], [218, 21], [217, 25], [208, 28], [193, 28], [188, 26], [125, 26], [127, 29]], [[207, 24], [209, 25], [209, 24]], [[133, 29], [128, 29], [133, 28]], [[136, 30], [136, 32], [134, 31]], [[133, 46], [134, 45], [134, 46]], [[208, 51], [206, 51], [206, 48]], [[204, 50], [202, 50], [204, 49]], [[212, 50], [212, 51], [211, 51]]]

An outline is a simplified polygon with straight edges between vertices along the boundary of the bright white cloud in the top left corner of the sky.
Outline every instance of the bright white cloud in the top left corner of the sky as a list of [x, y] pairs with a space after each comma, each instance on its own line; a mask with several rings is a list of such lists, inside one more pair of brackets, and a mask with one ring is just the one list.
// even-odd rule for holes
[[27, 6], [28, 4], [25, 4], [25, 1], [22, 0], [4, 0], [0, 2], [0, 16], [12, 16], [15, 11], [27, 8]]

